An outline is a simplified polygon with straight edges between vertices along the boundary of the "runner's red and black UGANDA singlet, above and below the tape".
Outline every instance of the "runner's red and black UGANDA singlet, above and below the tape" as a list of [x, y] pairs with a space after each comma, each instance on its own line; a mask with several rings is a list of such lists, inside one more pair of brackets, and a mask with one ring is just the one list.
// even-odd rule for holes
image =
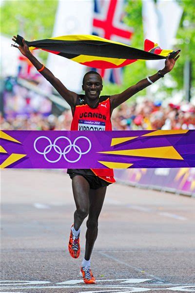
[[[112, 130], [110, 120], [110, 96], [101, 96], [96, 108], [91, 108], [85, 102], [85, 95], [78, 95], [71, 130], [103, 131]], [[68, 170], [68, 173], [71, 169]], [[76, 169], [72, 169], [77, 172]], [[113, 169], [78, 169], [83, 173], [96, 175], [99, 178], [114, 183]]]

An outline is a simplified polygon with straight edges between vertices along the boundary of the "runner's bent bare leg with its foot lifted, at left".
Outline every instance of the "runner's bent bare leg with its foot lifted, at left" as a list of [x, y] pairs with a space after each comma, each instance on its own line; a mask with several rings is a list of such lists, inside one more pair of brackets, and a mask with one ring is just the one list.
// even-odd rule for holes
[[76, 211], [74, 213], [74, 228], [78, 230], [89, 213], [89, 183], [80, 175], [72, 179], [73, 195], [76, 204]]

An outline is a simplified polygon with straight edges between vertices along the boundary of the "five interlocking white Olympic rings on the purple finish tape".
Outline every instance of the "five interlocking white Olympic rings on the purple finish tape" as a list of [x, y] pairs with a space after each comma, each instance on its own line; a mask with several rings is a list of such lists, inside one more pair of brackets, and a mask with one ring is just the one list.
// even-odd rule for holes
[[[37, 142], [38, 142], [40, 139], [46, 139], [46, 140], [49, 142], [49, 145], [46, 146], [45, 149], [44, 149], [43, 151], [39, 151], [39, 150], [37, 149], [37, 146], [36, 146]], [[65, 140], [67, 140], [68, 143], [69, 143], [69, 145], [68, 145], [68, 146], [65, 146], [63, 150], [61, 150], [61, 148], [60, 148], [58, 145], [56, 145], [56, 143], [57, 143], [57, 141], [58, 141], [59, 139], [65, 139]], [[88, 149], [87, 149], [86, 151], [81, 151], [81, 148], [80, 148], [79, 146], [76, 145], [76, 142], [77, 142], [79, 139], [85, 139], [85, 140], [87, 140], [87, 142], [89, 143], [89, 147], [88, 147]], [[66, 154], [68, 154], [68, 153], [71, 151], [72, 147], [73, 147], [73, 149], [75, 150], [75, 152], [78, 154], [78, 159], [73, 160], [73, 161], [69, 160], [69, 159], [66, 157]], [[47, 158], [47, 156], [46, 156], [46, 155], [52, 150], [52, 148], [53, 148], [53, 149], [59, 154], [59, 158], [58, 158], [57, 160], [53, 160], [53, 161], [52, 161], [52, 160], [49, 160], [49, 159]], [[39, 154], [43, 155], [44, 158], [45, 158], [45, 160], [46, 160], [47, 162], [49, 162], [49, 163], [57, 163], [57, 162], [61, 159], [62, 155], [63, 155], [64, 159], [65, 159], [67, 162], [69, 162], [69, 163], [76, 163], [76, 162], [78, 162], [78, 161], [80, 160], [81, 155], [87, 154], [87, 153], [90, 151], [90, 149], [91, 149], [91, 141], [90, 141], [87, 137], [85, 137], [85, 136], [79, 136], [79, 137], [77, 137], [77, 138], [74, 140], [74, 142], [73, 142], [73, 144], [72, 144], [71, 140], [70, 140], [68, 137], [66, 137], [66, 136], [59, 136], [58, 138], [55, 139], [54, 143], [52, 144], [51, 140], [50, 140], [47, 136], [39, 136], [38, 138], [36, 138], [36, 140], [35, 140], [35, 142], [34, 142], [34, 149], [35, 149], [36, 152], [38, 152]]]

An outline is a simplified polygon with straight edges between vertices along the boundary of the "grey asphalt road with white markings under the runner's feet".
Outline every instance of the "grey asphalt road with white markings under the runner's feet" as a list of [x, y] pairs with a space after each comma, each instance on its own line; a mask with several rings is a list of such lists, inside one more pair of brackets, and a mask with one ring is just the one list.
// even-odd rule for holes
[[[1, 171], [1, 292], [195, 292], [195, 199], [113, 184], [107, 188], [85, 285], [69, 256], [71, 180], [50, 170]], [[194, 270], [194, 271], [193, 271]]]

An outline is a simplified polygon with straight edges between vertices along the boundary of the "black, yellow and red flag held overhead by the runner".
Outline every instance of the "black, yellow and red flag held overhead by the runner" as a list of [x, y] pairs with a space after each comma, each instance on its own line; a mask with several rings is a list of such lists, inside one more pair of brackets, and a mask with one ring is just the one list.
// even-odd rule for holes
[[[16, 42], [22, 45], [22, 37]], [[145, 40], [144, 50], [92, 35], [70, 35], [28, 42], [30, 50], [41, 49], [94, 68], [117, 68], [137, 60], [166, 59], [173, 50], [162, 50]]]

